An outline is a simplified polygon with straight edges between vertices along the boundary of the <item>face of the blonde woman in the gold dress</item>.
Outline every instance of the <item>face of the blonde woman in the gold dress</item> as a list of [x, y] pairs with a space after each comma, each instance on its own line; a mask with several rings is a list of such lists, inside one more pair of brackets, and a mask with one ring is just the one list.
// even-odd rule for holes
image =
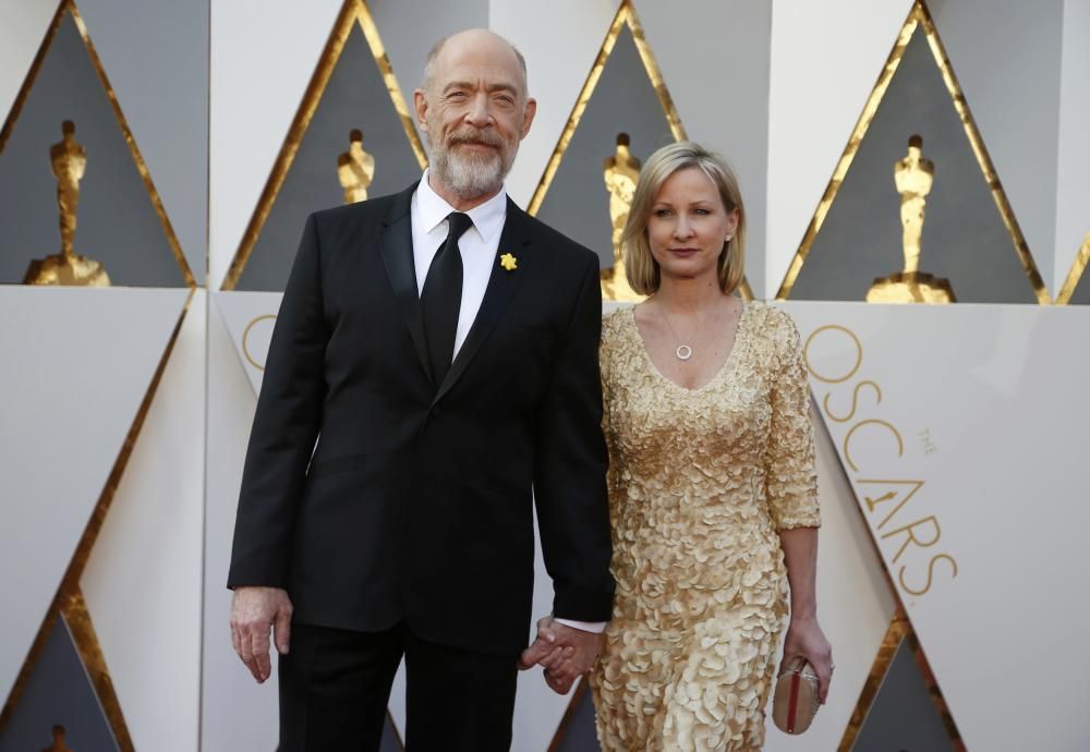
[[727, 211], [712, 179], [687, 167], [667, 178], [655, 196], [647, 243], [664, 279], [715, 281], [723, 244], [737, 230], [738, 209]]

